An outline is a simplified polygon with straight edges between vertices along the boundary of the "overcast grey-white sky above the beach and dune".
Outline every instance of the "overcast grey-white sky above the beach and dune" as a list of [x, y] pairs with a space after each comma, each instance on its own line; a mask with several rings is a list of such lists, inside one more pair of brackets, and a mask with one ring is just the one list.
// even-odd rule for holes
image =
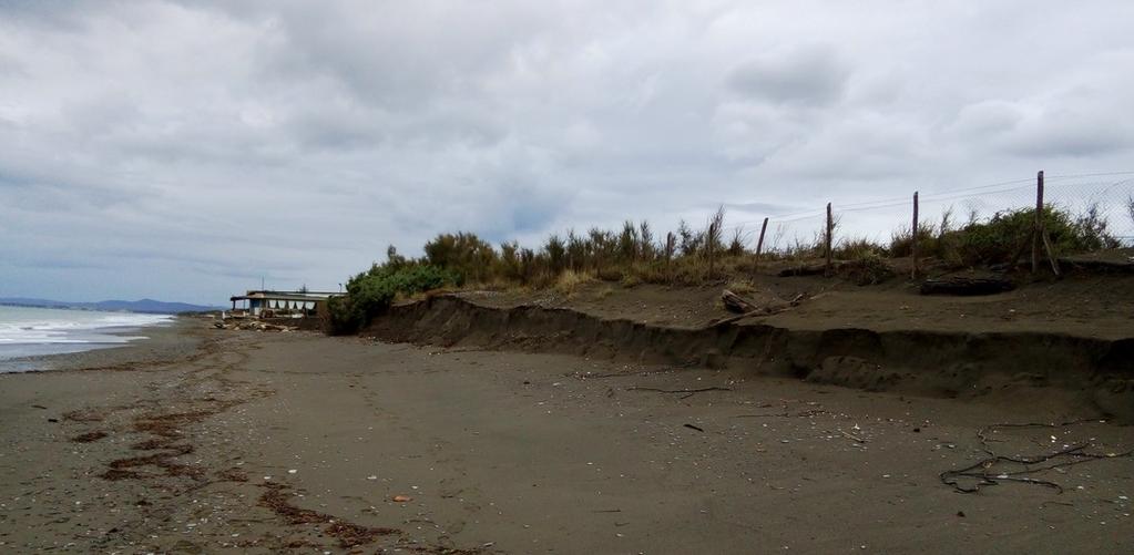
[[0, 297], [1134, 170], [1134, 2], [0, 0]]

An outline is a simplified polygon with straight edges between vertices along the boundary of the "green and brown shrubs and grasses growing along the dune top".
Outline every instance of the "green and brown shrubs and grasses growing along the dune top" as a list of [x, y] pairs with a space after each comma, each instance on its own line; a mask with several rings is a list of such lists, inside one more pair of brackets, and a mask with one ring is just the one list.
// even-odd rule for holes
[[[1131, 206], [1134, 217], [1134, 200]], [[941, 270], [1002, 264], [1024, 254], [1030, 245], [1035, 210], [1005, 211], [987, 220], [971, 216], [957, 223], [946, 212], [937, 223], [923, 222], [916, 230], [919, 256]], [[1082, 214], [1047, 206], [1044, 229], [1057, 255], [1093, 251], [1119, 246], [1107, 231], [1107, 221], [1094, 207]], [[816, 233], [810, 241], [796, 240], [771, 248], [756, 259], [754, 241], [742, 229], [725, 233], [725, 212], [718, 210], [700, 229], [682, 221], [676, 231], [660, 234], [649, 222], [626, 221], [620, 229], [591, 228], [551, 234], [538, 247], [516, 241], [493, 247], [475, 233], [441, 233], [426, 242], [424, 255], [407, 258], [393, 246], [383, 263], [350, 278], [347, 296], [330, 305], [330, 331], [353, 333], [381, 314], [399, 296], [440, 288], [553, 289], [572, 293], [589, 281], [634, 287], [640, 283], [700, 285], [743, 283], [758, 264], [804, 261], [826, 256], [827, 241]], [[895, 231], [888, 244], [832, 233], [831, 256], [852, 261], [850, 279], [878, 283], [895, 275], [891, 261], [911, 256], [913, 232]]]

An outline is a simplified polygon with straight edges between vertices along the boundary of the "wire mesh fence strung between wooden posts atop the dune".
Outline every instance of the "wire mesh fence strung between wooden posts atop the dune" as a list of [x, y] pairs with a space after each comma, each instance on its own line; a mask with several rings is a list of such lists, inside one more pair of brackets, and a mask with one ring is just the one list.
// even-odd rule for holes
[[[1036, 178], [981, 185], [948, 191], [919, 194], [919, 225], [939, 231], [987, 222], [997, 214], [1034, 210]], [[1066, 212], [1072, 219], [1091, 219], [1103, 225], [1107, 236], [1123, 246], [1134, 246], [1134, 171], [1047, 176], [1043, 203]], [[870, 202], [832, 202], [836, 222], [833, 241], [866, 240], [888, 245], [913, 227], [914, 191], [908, 196]], [[755, 215], [755, 214], [752, 214]], [[735, 222], [726, 234], [759, 233], [763, 219]], [[754, 230], [754, 231], [753, 231]], [[827, 230], [826, 203], [814, 211], [769, 215], [763, 251], [798, 250], [819, 245]]]

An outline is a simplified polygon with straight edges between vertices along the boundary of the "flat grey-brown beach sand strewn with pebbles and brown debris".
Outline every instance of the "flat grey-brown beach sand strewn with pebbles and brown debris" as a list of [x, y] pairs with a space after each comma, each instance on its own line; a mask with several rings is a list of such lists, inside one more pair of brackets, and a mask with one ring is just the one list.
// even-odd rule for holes
[[982, 447], [1134, 447], [1098, 420], [978, 437], [1098, 418], [1056, 394], [928, 399], [206, 324], [0, 375], [0, 549], [1134, 549], [1134, 459], [1030, 475], [1063, 493], [939, 479]]

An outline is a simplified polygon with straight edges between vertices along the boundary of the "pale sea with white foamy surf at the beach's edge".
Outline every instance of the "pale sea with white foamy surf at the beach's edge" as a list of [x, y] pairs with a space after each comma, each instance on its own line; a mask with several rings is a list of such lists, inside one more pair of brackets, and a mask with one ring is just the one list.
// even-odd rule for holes
[[120, 347], [172, 315], [0, 306], [0, 373], [36, 369], [27, 357]]

